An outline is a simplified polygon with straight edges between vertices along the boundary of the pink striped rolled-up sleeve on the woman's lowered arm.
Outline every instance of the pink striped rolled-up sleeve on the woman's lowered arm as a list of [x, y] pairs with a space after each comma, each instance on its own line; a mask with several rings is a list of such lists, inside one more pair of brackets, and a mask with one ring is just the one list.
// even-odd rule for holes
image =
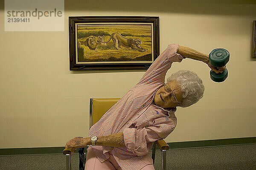
[[[165, 118], [163, 118], [165, 119]], [[156, 123], [152, 126], [137, 128], [125, 128], [123, 131], [125, 146], [137, 156], [148, 153], [147, 143], [155, 142], [158, 139], [166, 138], [177, 124], [177, 118], [170, 118], [163, 123]]]

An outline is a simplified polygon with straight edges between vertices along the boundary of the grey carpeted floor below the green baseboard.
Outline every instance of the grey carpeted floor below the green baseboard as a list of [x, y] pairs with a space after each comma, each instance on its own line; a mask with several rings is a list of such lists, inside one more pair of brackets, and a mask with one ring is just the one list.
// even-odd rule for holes
[[[167, 170], [256, 170], [256, 144], [171, 149]], [[72, 169], [79, 170], [79, 156], [72, 156]], [[161, 152], [156, 152], [155, 170], [161, 170]], [[65, 170], [62, 154], [0, 156], [0, 170]]]

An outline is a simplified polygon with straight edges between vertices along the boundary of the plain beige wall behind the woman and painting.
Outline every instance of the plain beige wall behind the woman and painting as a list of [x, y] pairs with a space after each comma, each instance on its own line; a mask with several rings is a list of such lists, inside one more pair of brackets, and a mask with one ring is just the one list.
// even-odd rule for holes
[[145, 71], [69, 71], [68, 16], [86, 15], [159, 16], [161, 52], [169, 43], [205, 54], [213, 48], [230, 51], [229, 76], [222, 83], [212, 82], [202, 62], [184, 59], [172, 65], [167, 76], [180, 69], [195, 71], [206, 91], [196, 105], [178, 108], [177, 127], [167, 142], [256, 136], [255, 4], [94, 2], [66, 0], [64, 32], [5, 32], [1, 9], [0, 148], [57, 147], [87, 136], [89, 98], [120, 97], [143, 76]]

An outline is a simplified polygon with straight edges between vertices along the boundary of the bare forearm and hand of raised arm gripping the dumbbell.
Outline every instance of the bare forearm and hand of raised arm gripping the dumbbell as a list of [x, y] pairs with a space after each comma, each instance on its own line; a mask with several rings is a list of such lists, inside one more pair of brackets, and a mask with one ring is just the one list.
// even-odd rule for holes
[[225, 70], [225, 68], [226, 68], [226, 66], [214, 67], [213, 65], [210, 64], [209, 56], [207, 54], [203, 54], [203, 53], [196, 51], [192, 48], [179, 46], [177, 54], [180, 54], [184, 58], [190, 58], [190, 59], [202, 61], [202, 62], [206, 63], [209, 66], [209, 68], [211, 68], [212, 71], [214, 71], [217, 74], [222, 73], [222, 71]]

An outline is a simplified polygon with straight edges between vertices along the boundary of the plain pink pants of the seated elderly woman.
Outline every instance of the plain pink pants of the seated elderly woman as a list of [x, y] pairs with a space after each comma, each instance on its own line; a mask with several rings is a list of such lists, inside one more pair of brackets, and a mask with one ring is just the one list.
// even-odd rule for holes
[[[116, 162], [116, 159], [112, 155], [112, 151], [108, 153], [109, 153], [109, 159], [101, 163], [93, 153], [92, 148], [89, 146], [87, 149], [87, 159], [85, 163], [85, 170], [122, 170], [122, 168], [119, 167], [118, 163]], [[146, 165], [141, 170], [154, 170], [154, 165], [153, 164]]]

